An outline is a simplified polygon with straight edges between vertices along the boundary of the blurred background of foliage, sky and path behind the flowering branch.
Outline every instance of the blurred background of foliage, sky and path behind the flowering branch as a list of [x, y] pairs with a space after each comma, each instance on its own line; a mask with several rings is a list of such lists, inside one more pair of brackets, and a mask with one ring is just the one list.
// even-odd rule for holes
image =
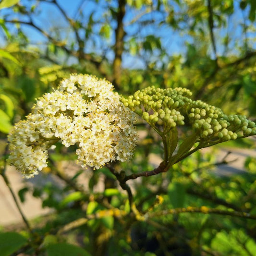
[[[255, 121], [256, 1], [2, 0], [2, 166], [12, 125], [24, 119], [36, 98], [57, 88], [70, 73], [105, 77], [124, 96], [149, 85], [186, 87], [193, 99]], [[138, 129], [134, 160], [117, 164], [117, 169], [152, 170], [161, 161], [159, 138], [143, 122], [138, 122]], [[133, 183], [135, 202], [146, 211], [156, 195], [163, 195], [163, 208], [207, 205], [256, 213], [255, 156], [253, 138], [197, 152], [169, 174]], [[83, 207], [91, 213], [110, 204], [125, 206], [126, 198], [107, 169], [85, 171], [74, 159], [72, 149], [57, 145], [49, 167], [29, 182], [7, 168], [6, 175], [28, 217], [48, 214], [45, 227], [40, 226], [40, 218], [33, 222], [41, 235], [83, 216]], [[80, 187], [86, 196], [67, 199]], [[102, 197], [110, 188], [116, 194]], [[10, 224], [21, 217], [15, 213], [12, 198], [6, 199], [9, 191], [4, 182], [0, 190], [0, 225], [15, 230]], [[90, 210], [88, 200], [94, 202]], [[66, 239], [93, 255], [255, 255], [254, 220], [184, 214], [159, 222], [97, 220]]]

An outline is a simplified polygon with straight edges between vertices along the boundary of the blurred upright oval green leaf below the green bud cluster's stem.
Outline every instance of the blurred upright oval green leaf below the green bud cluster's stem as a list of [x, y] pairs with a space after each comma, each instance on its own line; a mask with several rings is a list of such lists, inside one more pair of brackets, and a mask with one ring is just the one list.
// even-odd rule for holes
[[184, 207], [186, 190], [183, 183], [170, 183], [168, 186], [168, 195], [174, 208]]

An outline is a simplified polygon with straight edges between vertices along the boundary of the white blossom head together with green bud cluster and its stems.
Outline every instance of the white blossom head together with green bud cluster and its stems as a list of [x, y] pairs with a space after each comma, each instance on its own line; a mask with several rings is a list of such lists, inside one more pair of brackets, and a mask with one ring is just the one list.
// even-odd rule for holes
[[[59, 140], [66, 147], [77, 144], [82, 167], [126, 161], [137, 142], [136, 114], [163, 142], [164, 160], [152, 174], [167, 171], [200, 148], [256, 135], [256, 124], [245, 116], [225, 115], [191, 96], [185, 88], [149, 86], [121, 98], [105, 79], [73, 74], [39, 98], [26, 119], [13, 127], [9, 162], [31, 177], [47, 166], [48, 149]], [[178, 126], [189, 131], [185, 138]]]

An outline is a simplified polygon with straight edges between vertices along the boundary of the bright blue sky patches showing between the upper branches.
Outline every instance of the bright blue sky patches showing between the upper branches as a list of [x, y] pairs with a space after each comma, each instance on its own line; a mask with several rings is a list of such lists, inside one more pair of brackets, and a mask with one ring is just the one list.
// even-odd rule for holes
[[[60, 3], [61, 7], [68, 13], [69, 17], [71, 18], [75, 18], [77, 17], [77, 15], [79, 15], [79, 12], [77, 12], [77, 8], [81, 2], [81, 0], [58, 0], [58, 2]], [[37, 3], [34, 0], [21, 0], [21, 4], [24, 4], [26, 6], [30, 6], [31, 3]], [[98, 0], [98, 3], [94, 0], [86, 0], [84, 1], [83, 5], [81, 6], [81, 10], [84, 14], [84, 22], [86, 23], [88, 20], [88, 17], [90, 15], [90, 13], [93, 12], [93, 17], [95, 20], [102, 20], [103, 19], [103, 14], [107, 11], [106, 9], [106, 5], [110, 4], [111, 7], [116, 7], [117, 2], [116, 1], [105, 1], [105, 0]], [[219, 36], [224, 36], [226, 33], [226, 30], [229, 29], [230, 30], [230, 34], [232, 34], [232, 36], [235, 38], [231, 44], [231, 46], [235, 43], [238, 43], [239, 40], [241, 41], [240, 35], [241, 35], [241, 21], [242, 21], [242, 12], [240, 12], [240, 9], [238, 8], [239, 2], [238, 1], [234, 1], [234, 5], [235, 5], [235, 14], [232, 15], [232, 19], [229, 20], [229, 26], [226, 29], [222, 29], [222, 30], [214, 30], [216, 38], [218, 38]], [[177, 9], [177, 6], [174, 6], [174, 10], [175, 8]], [[248, 8], [247, 8], [248, 9]], [[176, 10], [178, 11], [178, 10]], [[139, 12], [143, 12], [142, 11], [138, 11], [138, 10], [134, 10], [131, 9], [129, 7], [127, 7], [127, 12], [126, 15], [124, 17], [124, 24], [129, 24], [129, 22], [139, 13]], [[247, 10], [248, 12], [248, 10]], [[4, 15], [8, 14], [8, 13], [12, 13], [10, 15], [10, 19], [14, 19], [14, 18], [19, 18], [21, 20], [25, 20], [25, 21], [29, 21], [28, 19], [25, 19], [24, 16], [21, 16], [17, 13], [13, 13], [8, 9], [3, 9], [0, 11], [0, 18], [3, 17]], [[159, 20], [159, 19], [165, 19], [165, 16], [162, 16], [162, 14], [160, 14], [160, 12], [152, 12], [146, 15], [150, 15], [152, 18]], [[146, 15], [144, 15], [141, 20], [146, 19]], [[73, 34], [72, 31], [70, 31], [69, 34], [67, 34], [67, 22], [65, 21], [65, 19], [62, 17], [61, 13], [54, 8], [53, 4], [47, 3], [47, 2], [40, 2], [38, 11], [37, 11], [37, 15], [34, 15], [33, 17], [33, 21], [35, 22], [35, 24], [37, 24], [39, 27], [45, 29], [46, 31], [51, 31], [51, 28], [53, 26], [59, 26], [63, 28], [63, 31], [65, 33], [63, 33], [63, 31], [60, 30], [60, 35], [63, 36], [63, 39], [65, 38], [65, 40], [72, 40]], [[116, 24], [115, 23], [111, 23], [110, 26], [114, 29]], [[11, 29], [11, 33], [12, 33], [12, 26], [8, 25], [8, 27]], [[44, 46], [44, 44], [46, 43], [46, 37], [42, 36], [41, 33], [38, 33], [34, 28], [31, 28], [29, 26], [25, 26], [25, 33], [26, 35], [29, 36], [29, 38], [31, 38], [31, 43], [32, 44], [39, 44], [41, 47]], [[100, 53], [102, 51], [102, 49], [104, 49], [104, 47], [110, 47], [113, 42], [114, 42], [114, 33], [111, 34], [111, 37], [109, 40], [104, 40], [102, 41], [100, 39], [100, 37], [97, 35], [98, 31], [100, 29], [100, 26], [95, 26], [95, 35], [93, 36], [93, 40], [89, 40], [86, 42], [86, 48], [85, 51], [90, 53], [90, 52], [96, 52], [96, 53]], [[169, 56], [175, 55], [175, 54], [184, 54], [186, 52], [186, 42], [190, 42], [192, 43], [192, 38], [189, 37], [186, 33], [180, 33], [178, 31], [174, 31], [171, 27], [168, 26], [162, 26], [161, 28], [157, 27], [156, 25], [150, 25], [150, 26], [141, 26], [138, 27], [138, 24], [131, 24], [131, 25], [126, 25], [125, 26], [125, 30], [127, 32], [128, 35], [133, 35], [135, 33], [135, 36], [138, 36], [138, 40], [140, 40], [140, 38], [143, 38], [146, 35], [155, 35], [157, 37], [161, 38], [161, 43], [162, 46], [166, 49], [167, 53]], [[136, 33], [137, 31], [137, 33]], [[2, 33], [0, 34], [0, 36], [3, 35]], [[126, 37], [128, 38], [128, 37]], [[0, 40], [3, 39], [0, 38]], [[1, 42], [3, 42], [3, 40], [1, 40]], [[95, 43], [95, 45], [93, 45], [93, 42]], [[221, 45], [217, 44], [217, 49], [219, 51], [219, 54], [223, 53], [223, 48], [221, 48]], [[209, 44], [209, 52], [211, 52], [211, 46]], [[156, 52], [157, 53], [157, 52]], [[112, 50], [108, 50], [107, 51], [107, 57], [112, 60], [114, 55], [113, 55], [113, 51]], [[136, 58], [134, 60], [134, 56], [131, 56], [129, 54], [126, 54], [124, 56], [124, 62], [123, 65], [125, 67], [133, 67], [133, 68], [138, 68], [138, 67], [143, 67], [144, 63], [141, 62], [139, 60], [139, 58]], [[135, 64], [134, 64], [135, 63]]]

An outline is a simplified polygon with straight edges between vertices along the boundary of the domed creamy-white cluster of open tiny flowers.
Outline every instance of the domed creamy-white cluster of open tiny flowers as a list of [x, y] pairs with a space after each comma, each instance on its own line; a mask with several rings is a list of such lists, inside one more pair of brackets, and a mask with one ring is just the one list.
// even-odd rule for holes
[[48, 149], [57, 141], [77, 144], [78, 162], [99, 169], [126, 161], [137, 142], [135, 114], [124, 107], [113, 85], [94, 76], [73, 74], [58, 90], [38, 98], [26, 120], [9, 134], [9, 162], [26, 177], [47, 166]]

